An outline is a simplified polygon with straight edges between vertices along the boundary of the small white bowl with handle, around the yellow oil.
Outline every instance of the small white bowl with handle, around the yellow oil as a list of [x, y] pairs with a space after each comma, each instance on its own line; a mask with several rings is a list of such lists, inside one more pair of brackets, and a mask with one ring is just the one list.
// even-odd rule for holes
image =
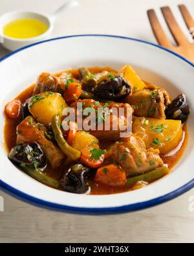
[[[9, 51], [16, 51], [17, 49], [25, 47], [26, 45], [37, 43], [38, 41], [47, 40], [48, 38], [50, 38], [52, 30], [54, 29], [54, 20], [56, 19], [56, 17], [58, 17], [59, 14], [61, 14], [64, 10], [67, 10], [67, 8], [71, 8], [74, 6], [78, 6], [78, 1], [67, 1], [52, 15], [28, 11], [8, 12], [7, 14], [4, 14], [3, 16], [0, 17], [0, 43]], [[5, 34], [3, 34], [3, 28], [5, 27], [6, 24], [16, 19], [38, 19], [39, 21], [45, 23], [48, 29], [45, 33], [34, 38], [16, 39], [10, 38], [9, 36], [5, 36]]]

